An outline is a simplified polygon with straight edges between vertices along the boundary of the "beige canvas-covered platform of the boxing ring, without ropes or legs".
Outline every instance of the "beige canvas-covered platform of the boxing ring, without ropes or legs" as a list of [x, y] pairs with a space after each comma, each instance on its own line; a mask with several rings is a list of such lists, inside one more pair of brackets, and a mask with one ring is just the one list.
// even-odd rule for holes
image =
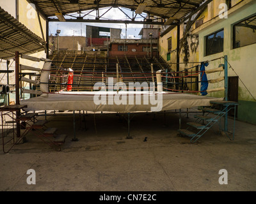
[[[106, 96], [106, 104], [98, 104], [97, 99]], [[124, 98], [120, 104], [115, 103], [114, 97]], [[159, 97], [161, 96], [161, 97]], [[139, 99], [138, 99], [139, 98]], [[150, 103], [154, 98], [154, 103]], [[136, 91], [83, 91], [83, 92], [57, 92], [48, 97], [38, 96], [20, 101], [22, 105], [28, 105], [26, 111], [36, 110], [84, 110], [88, 112], [150, 112], [156, 110], [177, 110], [180, 108], [193, 108], [196, 106], [209, 106], [210, 101], [222, 101], [223, 98], [208, 96], [196, 96], [176, 92], [136, 92]], [[117, 102], [116, 101], [116, 102]], [[112, 102], [112, 103], [111, 103]], [[161, 103], [161, 104], [160, 104]], [[160, 104], [160, 105], [159, 105]], [[158, 106], [158, 108], [157, 108]], [[153, 109], [154, 110], [154, 109]]]

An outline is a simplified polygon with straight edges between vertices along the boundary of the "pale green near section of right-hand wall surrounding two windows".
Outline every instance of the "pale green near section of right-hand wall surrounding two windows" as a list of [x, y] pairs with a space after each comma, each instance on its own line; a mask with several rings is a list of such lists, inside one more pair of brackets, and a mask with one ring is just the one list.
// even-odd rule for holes
[[[238, 5], [238, 4], [237, 4]], [[250, 17], [253, 14], [256, 14], [256, 2], [250, 1], [250, 3], [240, 6], [237, 10], [233, 11], [228, 15], [228, 18], [219, 19], [214, 22], [214, 24], [205, 27], [202, 31], [199, 31], [199, 61], [211, 61], [212, 59], [216, 59], [218, 57], [223, 57], [224, 55], [228, 56], [228, 62], [236, 71], [239, 76], [239, 90], [238, 90], [238, 100], [241, 105], [238, 107], [238, 119], [244, 120], [246, 122], [250, 122], [256, 124], [256, 101], [253, 99], [256, 98], [256, 89], [255, 89], [255, 76], [256, 76], [256, 68], [255, 68], [255, 50], [256, 43], [252, 45], [247, 45], [244, 47], [233, 48], [232, 40], [233, 40], [233, 26], [239, 20]], [[224, 29], [224, 50], [218, 54], [213, 54], [209, 56], [205, 56], [205, 36], [211, 34], [220, 29]], [[248, 36], [244, 36], [246, 38]], [[223, 64], [224, 60], [212, 61], [207, 69], [217, 68], [219, 64]], [[236, 76], [236, 73], [228, 66], [228, 77]], [[221, 73], [221, 76], [223, 73]], [[218, 78], [220, 77], [219, 73], [214, 73], [209, 75], [208, 79]], [[246, 85], [244, 87], [243, 83]], [[218, 84], [209, 84], [208, 89], [214, 89], [216, 87], [223, 87], [224, 82]], [[212, 92], [209, 93], [209, 96], [214, 97], [223, 97], [224, 92]], [[250, 110], [250, 111], [248, 111]]]

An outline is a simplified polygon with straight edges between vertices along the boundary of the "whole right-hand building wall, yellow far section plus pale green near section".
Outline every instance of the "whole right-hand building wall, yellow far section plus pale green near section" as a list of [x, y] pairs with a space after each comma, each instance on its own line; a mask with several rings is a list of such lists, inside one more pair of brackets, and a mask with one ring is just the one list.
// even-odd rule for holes
[[[238, 99], [241, 104], [238, 108], [238, 119], [256, 124], [256, 60], [255, 60], [255, 50], [256, 43], [252, 45], [247, 45], [239, 48], [232, 48], [232, 25], [242, 20], [253, 13], [256, 13], [256, 1], [251, 0], [232, 0], [230, 13], [228, 13], [228, 18], [220, 19], [218, 17], [222, 7], [219, 7], [221, 3], [227, 3], [225, 0], [214, 0], [208, 4], [207, 8], [198, 17], [198, 20], [203, 19], [203, 24], [196, 27], [196, 23], [193, 24], [191, 32], [187, 38], [187, 51], [184, 52], [184, 48], [181, 48], [180, 52], [180, 62], [202, 62], [211, 61], [218, 57], [223, 57], [228, 55], [228, 62], [232, 65], [237, 75], [241, 80], [243, 80], [247, 89], [244, 87], [243, 83], [239, 81]], [[220, 29], [224, 29], [224, 50], [221, 53], [205, 56], [205, 36], [214, 33]], [[180, 39], [184, 31], [184, 25], [180, 25]], [[198, 38], [193, 34], [197, 34]], [[172, 37], [172, 50], [171, 59], [169, 62], [176, 62], [176, 48], [177, 48], [177, 27], [172, 29], [169, 33], [165, 34], [162, 38], [159, 38], [159, 54], [164, 60], [167, 60], [166, 55], [168, 53], [168, 38]], [[244, 36], [244, 38], [253, 38], [253, 36]], [[195, 43], [198, 41], [198, 43]], [[197, 48], [193, 47], [198, 45]], [[195, 51], [196, 50], [196, 51]], [[188, 59], [186, 59], [186, 54]], [[218, 59], [216, 61], [211, 61], [206, 69], [218, 68], [220, 64], [223, 64], [223, 59]], [[180, 70], [194, 66], [195, 64], [180, 64]], [[229, 66], [228, 66], [229, 67]], [[172, 68], [176, 70], [175, 64], [172, 64]], [[228, 77], [236, 76], [236, 73], [231, 68], [228, 68]], [[207, 75], [208, 80], [223, 77], [224, 73], [212, 73]], [[200, 84], [199, 84], [200, 87]], [[224, 82], [218, 82], [216, 84], [209, 84], [208, 89], [215, 89], [218, 87], [224, 87]], [[224, 97], [224, 91], [211, 92], [207, 96], [214, 96], [218, 98]], [[252, 96], [251, 96], [252, 94]]]

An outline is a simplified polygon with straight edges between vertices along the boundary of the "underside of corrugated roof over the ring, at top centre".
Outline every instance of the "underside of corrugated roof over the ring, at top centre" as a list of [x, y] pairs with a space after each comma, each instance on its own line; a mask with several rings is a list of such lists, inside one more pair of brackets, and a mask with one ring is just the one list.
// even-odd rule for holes
[[[136, 10], [140, 1], [134, 0], [101, 0], [99, 4], [95, 0], [79, 0], [77, 3], [70, 3], [70, 0], [34, 0], [38, 8], [47, 17], [55, 16], [55, 13], [74, 13], [84, 10], [92, 10], [93, 8], [103, 8], [108, 6], [120, 6]], [[74, 2], [74, 0], [73, 0]], [[202, 4], [204, 0], [144, 0], [143, 3], [147, 4], [145, 12], [159, 17], [173, 17], [184, 18], [192, 10], [195, 10]]]

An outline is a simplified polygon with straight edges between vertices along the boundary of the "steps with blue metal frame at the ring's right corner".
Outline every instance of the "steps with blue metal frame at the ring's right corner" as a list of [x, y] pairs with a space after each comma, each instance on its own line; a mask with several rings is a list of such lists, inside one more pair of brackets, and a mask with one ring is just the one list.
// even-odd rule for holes
[[[230, 140], [234, 140], [234, 130], [233, 133], [228, 131], [228, 112], [230, 110], [235, 110], [237, 102], [234, 101], [211, 101], [212, 106], [202, 108], [203, 115], [195, 115], [194, 122], [188, 122], [189, 128], [179, 129], [180, 135], [188, 136], [191, 138], [190, 142], [195, 143], [201, 136], [203, 136], [214, 124], [219, 123], [220, 130], [225, 133], [225, 135], [230, 138], [230, 134], [233, 135]], [[216, 109], [216, 106], [220, 106], [220, 110]], [[224, 129], [221, 129], [221, 118], [225, 119]], [[234, 127], [235, 127], [236, 115], [234, 115]]]

